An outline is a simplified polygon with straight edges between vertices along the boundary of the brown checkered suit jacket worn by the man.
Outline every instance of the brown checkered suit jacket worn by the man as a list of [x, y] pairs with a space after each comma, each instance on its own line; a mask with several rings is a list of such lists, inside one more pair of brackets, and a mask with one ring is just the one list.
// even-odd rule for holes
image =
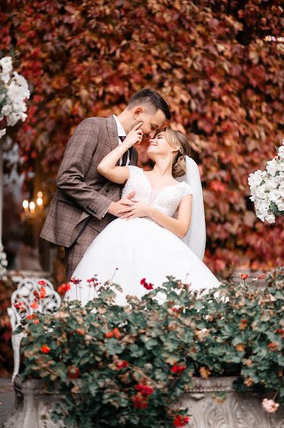
[[[56, 178], [56, 195], [41, 230], [41, 238], [69, 248], [88, 221], [100, 233], [115, 216], [102, 215], [120, 200], [122, 185], [98, 173], [102, 158], [118, 145], [115, 118], [86, 118], [65, 148]], [[130, 164], [137, 165], [137, 150], [130, 149]], [[119, 165], [119, 162], [117, 162]], [[93, 216], [90, 218], [90, 216]]]

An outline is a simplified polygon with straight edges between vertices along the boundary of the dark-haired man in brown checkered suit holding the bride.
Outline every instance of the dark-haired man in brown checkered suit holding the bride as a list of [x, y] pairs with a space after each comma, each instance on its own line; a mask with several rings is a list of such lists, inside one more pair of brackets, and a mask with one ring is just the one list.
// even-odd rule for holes
[[[153, 138], [170, 118], [166, 101], [159, 93], [144, 88], [132, 96], [119, 116], [86, 118], [75, 129], [65, 148], [56, 194], [40, 235], [65, 248], [66, 280], [95, 237], [115, 217], [124, 214], [119, 214], [120, 210], [133, 205], [134, 193], [121, 198], [123, 186], [102, 177], [98, 164], [138, 123], [142, 122], [144, 138]], [[117, 165], [137, 165], [137, 158], [133, 146]]]

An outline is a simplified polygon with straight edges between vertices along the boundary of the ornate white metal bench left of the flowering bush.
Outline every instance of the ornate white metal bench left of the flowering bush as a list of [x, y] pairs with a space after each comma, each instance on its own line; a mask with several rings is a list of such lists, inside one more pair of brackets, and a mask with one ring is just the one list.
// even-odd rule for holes
[[[46, 295], [41, 299], [41, 305], [37, 310], [34, 310], [31, 307], [31, 303], [34, 301], [33, 292], [38, 291], [41, 287], [38, 285], [38, 281], [46, 282], [45, 289]], [[14, 306], [14, 303], [23, 302], [23, 310], [19, 311]], [[54, 290], [51, 281], [46, 280], [45, 278], [35, 278], [35, 277], [26, 277], [19, 281], [17, 289], [11, 295], [11, 307], [7, 309], [11, 320], [12, 332], [21, 325], [21, 320], [26, 318], [27, 315], [33, 314], [33, 312], [53, 312], [61, 305], [61, 297], [56, 290]], [[14, 372], [12, 375], [12, 382], [14, 377], [19, 373], [20, 368], [20, 346], [21, 340], [25, 334], [23, 332], [18, 335], [12, 334], [12, 347], [14, 353]]]

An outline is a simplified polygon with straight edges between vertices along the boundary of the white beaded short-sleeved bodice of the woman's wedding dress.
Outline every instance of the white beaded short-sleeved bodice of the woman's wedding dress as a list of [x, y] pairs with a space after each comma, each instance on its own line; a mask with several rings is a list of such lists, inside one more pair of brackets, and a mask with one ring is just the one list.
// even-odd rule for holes
[[154, 205], [171, 217], [177, 211], [182, 198], [192, 194], [190, 185], [184, 181], [169, 185], [162, 190], [154, 190], [142, 168], [135, 165], [127, 165], [127, 168], [130, 170], [130, 176], [122, 190], [122, 197], [135, 191], [136, 200]]

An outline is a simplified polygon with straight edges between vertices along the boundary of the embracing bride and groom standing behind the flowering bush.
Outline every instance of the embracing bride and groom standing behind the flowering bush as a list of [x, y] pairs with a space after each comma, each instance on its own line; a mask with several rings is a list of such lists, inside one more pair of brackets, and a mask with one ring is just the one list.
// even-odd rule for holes
[[[102, 284], [115, 273], [126, 295], [141, 297], [167, 276], [209, 289], [219, 280], [202, 262], [205, 220], [199, 170], [186, 137], [163, 128], [171, 118], [159, 93], [135, 93], [119, 116], [86, 118], [65, 149], [41, 238], [65, 248], [67, 280], [81, 280], [66, 298], [90, 298], [87, 280]], [[137, 150], [149, 139], [154, 167], [137, 167]], [[147, 287], [143, 287], [144, 278]], [[93, 297], [92, 297], [93, 298]]]

